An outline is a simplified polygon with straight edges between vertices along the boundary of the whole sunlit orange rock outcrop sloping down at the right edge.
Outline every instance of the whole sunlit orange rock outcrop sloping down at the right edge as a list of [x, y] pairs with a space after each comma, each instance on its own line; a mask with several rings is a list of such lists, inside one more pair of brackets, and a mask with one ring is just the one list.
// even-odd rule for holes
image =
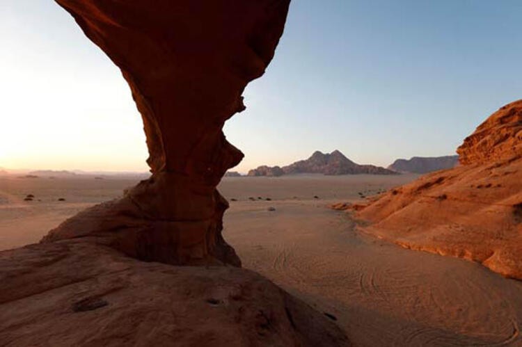
[[357, 218], [406, 248], [522, 280], [522, 100], [493, 113], [457, 152], [461, 166], [393, 189], [359, 207]]

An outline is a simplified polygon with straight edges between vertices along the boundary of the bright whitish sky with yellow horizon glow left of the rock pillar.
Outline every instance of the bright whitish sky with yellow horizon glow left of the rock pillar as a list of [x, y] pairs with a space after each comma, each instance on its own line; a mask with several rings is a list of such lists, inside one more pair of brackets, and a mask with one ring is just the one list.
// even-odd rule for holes
[[[53, 9], [49, 17], [28, 13], [31, 28], [9, 13], [14, 7], [0, 17], [10, 48], [0, 54], [0, 94], [8, 95], [0, 167], [148, 170], [143, 124], [120, 71], [67, 13]], [[49, 44], [56, 40], [68, 43]]]

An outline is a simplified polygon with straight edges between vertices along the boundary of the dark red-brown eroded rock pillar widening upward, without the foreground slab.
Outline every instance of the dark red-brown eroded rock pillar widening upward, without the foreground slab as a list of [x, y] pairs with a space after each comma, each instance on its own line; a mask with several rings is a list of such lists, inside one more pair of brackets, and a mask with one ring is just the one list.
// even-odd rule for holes
[[65, 221], [44, 242], [83, 237], [139, 259], [233, 264], [216, 185], [243, 154], [223, 135], [283, 33], [290, 0], [56, 0], [120, 67], [143, 117], [152, 177]]

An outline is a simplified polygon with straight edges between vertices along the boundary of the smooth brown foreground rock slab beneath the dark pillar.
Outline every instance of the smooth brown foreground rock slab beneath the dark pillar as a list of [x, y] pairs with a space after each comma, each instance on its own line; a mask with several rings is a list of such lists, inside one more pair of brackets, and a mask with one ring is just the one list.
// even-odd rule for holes
[[349, 346], [260, 275], [171, 266], [81, 240], [0, 252], [0, 346]]

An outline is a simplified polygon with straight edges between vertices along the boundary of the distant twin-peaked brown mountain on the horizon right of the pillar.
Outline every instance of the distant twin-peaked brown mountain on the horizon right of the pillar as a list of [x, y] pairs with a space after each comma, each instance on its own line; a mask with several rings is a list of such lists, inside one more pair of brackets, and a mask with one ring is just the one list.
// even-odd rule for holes
[[316, 151], [306, 160], [296, 161], [289, 166], [260, 166], [248, 172], [248, 176], [280, 176], [301, 173], [320, 173], [323, 175], [395, 175], [397, 172], [373, 165], [359, 165], [348, 159], [340, 151], [331, 153]]

